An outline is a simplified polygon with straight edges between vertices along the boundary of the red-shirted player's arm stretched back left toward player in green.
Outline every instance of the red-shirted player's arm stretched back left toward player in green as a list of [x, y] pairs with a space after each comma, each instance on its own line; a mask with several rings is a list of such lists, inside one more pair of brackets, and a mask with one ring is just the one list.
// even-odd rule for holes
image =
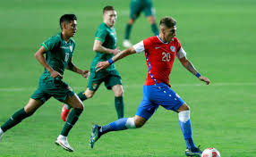
[[96, 71], [107, 69], [107, 67], [110, 64], [112, 64], [112, 63], [114, 63], [114, 62], [116, 62], [116, 61], [118, 61], [118, 60], [120, 60], [120, 59], [122, 59], [122, 58], [124, 58], [124, 57], [126, 57], [128, 55], [130, 55], [130, 54], [135, 54], [135, 53], [136, 53], [136, 51], [134, 50], [134, 48], [130, 47], [130, 48], [122, 51], [121, 53], [116, 54], [112, 59], [110, 59], [110, 60], [108, 60], [106, 62], [98, 62], [98, 64], [96, 65], [95, 69], [96, 69]]

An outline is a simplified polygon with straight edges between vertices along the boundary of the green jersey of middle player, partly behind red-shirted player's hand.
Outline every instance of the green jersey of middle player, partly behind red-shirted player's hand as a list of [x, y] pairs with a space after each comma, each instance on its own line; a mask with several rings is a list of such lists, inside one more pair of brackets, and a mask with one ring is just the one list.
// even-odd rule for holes
[[[115, 27], [109, 28], [106, 23], [101, 23], [96, 31], [95, 40], [99, 40], [102, 42], [102, 45], [109, 49], [116, 48], [116, 32]], [[104, 54], [100, 52], [96, 52], [96, 56], [90, 65], [90, 70], [95, 70], [95, 67], [98, 62], [103, 62], [111, 59], [113, 54]], [[115, 70], [115, 65], [111, 64], [107, 70]]]

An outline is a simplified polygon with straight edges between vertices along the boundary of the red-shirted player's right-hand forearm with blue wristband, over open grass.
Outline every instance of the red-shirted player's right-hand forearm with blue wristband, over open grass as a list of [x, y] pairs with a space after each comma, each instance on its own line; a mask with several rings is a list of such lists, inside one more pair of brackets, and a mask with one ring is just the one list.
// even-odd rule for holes
[[209, 78], [201, 76], [201, 74], [194, 68], [192, 65], [192, 62], [190, 62], [186, 57], [183, 57], [180, 59], [180, 62], [183, 64], [183, 67], [190, 72], [192, 72], [193, 75], [195, 75], [197, 78], [199, 78], [201, 81], [204, 81], [206, 85], [209, 85]]

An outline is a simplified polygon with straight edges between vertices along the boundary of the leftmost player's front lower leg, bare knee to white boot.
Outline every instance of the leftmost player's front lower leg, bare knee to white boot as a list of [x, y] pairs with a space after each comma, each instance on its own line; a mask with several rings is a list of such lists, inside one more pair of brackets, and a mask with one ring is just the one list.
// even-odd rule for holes
[[79, 116], [83, 111], [83, 104], [77, 95], [68, 96], [64, 103], [67, 103], [70, 106], [72, 106], [73, 111], [70, 112], [67, 121], [64, 124], [64, 128], [61, 132], [61, 135], [59, 135], [55, 140], [55, 144], [62, 146], [66, 151], [73, 152], [73, 148], [69, 145], [67, 141], [67, 136], [69, 131], [75, 125], [76, 121], [79, 119]]

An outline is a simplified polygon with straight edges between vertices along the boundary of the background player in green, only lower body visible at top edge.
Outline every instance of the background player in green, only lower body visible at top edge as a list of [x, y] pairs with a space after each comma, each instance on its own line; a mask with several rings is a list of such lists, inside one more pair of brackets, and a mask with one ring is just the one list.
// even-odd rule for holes
[[131, 47], [130, 34], [132, 31], [132, 25], [136, 19], [140, 16], [141, 12], [144, 12], [147, 17], [151, 30], [155, 36], [158, 35], [158, 26], [156, 24], [155, 9], [153, 8], [152, 0], [131, 0], [130, 4], [130, 19], [126, 24], [125, 36], [124, 36], [124, 47]]

